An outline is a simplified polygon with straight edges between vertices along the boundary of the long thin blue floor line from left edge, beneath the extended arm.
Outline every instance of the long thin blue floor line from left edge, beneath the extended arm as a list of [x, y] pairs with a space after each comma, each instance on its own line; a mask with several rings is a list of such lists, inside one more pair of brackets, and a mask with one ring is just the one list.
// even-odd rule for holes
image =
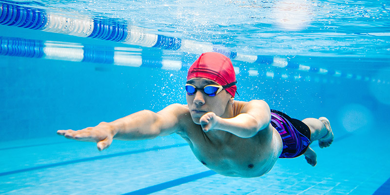
[[175, 144], [175, 145], [169, 145], [169, 146], [153, 147], [153, 148], [149, 148], [149, 149], [141, 149], [141, 150], [135, 150], [135, 151], [115, 153], [115, 154], [110, 154], [110, 155], [93, 156], [93, 157], [81, 158], [81, 159], [76, 159], [76, 160], [68, 160], [68, 161], [63, 161], [63, 162], [58, 162], [58, 163], [41, 165], [41, 166], [37, 166], [37, 167], [31, 167], [31, 168], [20, 169], [20, 170], [15, 170], [15, 171], [3, 172], [3, 173], [0, 173], [0, 176], [7, 176], [7, 175], [12, 175], [12, 174], [28, 172], [28, 171], [35, 171], [35, 170], [39, 170], [39, 169], [47, 169], [47, 168], [59, 167], [59, 166], [63, 166], [63, 165], [75, 164], [75, 163], [79, 163], [79, 162], [88, 162], [88, 161], [100, 160], [100, 159], [105, 159], [105, 158], [132, 155], [132, 154], [138, 154], [138, 153], [144, 153], [144, 152], [150, 152], [150, 151], [156, 151], [156, 150], [165, 150], [165, 149], [177, 148], [177, 147], [183, 147], [183, 146], [188, 146], [188, 144], [186, 144], [186, 143], [185, 144]]

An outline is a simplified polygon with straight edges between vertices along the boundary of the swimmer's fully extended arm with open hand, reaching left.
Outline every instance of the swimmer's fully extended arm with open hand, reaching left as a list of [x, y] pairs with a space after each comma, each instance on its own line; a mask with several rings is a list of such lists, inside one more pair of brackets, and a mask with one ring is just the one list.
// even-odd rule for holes
[[152, 139], [167, 136], [180, 130], [179, 119], [187, 115], [188, 108], [181, 104], [172, 104], [154, 113], [139, 111], [113, 122], [101, 122], [95, 127], [82, 130], [59, 130], [57, 134], [80, 141], [97, 142], [98, 150], [111, 145], [113, 138], [121, 140]]

